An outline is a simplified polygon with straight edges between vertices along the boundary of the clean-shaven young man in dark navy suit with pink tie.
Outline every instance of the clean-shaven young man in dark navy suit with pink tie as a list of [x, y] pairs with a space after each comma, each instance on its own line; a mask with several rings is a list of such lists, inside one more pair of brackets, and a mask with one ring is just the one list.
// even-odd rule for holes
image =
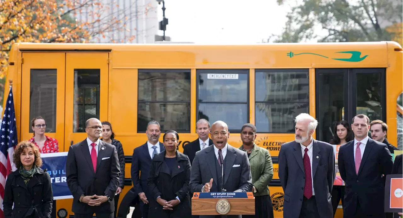
[[368, 137], [370, 119], [354, 116], [354, 140], [339, 149], [339, 171], [345, 181], [344, 218], [384, 218], [385, 176], [393, 161], [388, 147]]

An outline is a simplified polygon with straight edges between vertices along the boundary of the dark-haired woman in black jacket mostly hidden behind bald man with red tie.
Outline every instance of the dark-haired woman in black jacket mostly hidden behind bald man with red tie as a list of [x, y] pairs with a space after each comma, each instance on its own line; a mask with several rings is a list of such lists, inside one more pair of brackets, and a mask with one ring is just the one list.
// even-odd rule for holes
[[118, 201], [120, 193], [122, 189], [125, 188], [125, 153], [123, 152], [123, 146], [120, 141], [115, 139], [115, 133], [112, 131], [112, 125], [108, 121], [102, 122], [102, 141], [106, 143], [110, 143], [115, 145], [116, 151], [118, 152], [118, 159], [120, 165], [120, 176], [119, 176], [119, 185], [116, 189], [116, 195], [114, 197], [115, 201], [115, 212], [114, 217], [116, 218], [116, 214], [118, 213]]

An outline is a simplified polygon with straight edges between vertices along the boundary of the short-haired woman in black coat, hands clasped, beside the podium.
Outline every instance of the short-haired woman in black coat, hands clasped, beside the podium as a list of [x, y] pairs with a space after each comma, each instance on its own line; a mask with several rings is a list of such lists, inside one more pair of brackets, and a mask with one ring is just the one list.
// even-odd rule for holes
[[148, 177], [149, 218], [190, 218], [190, 160], [176, 150], [179, 135], [168, 130], [164, 136], [165, 150], [154, 155]]

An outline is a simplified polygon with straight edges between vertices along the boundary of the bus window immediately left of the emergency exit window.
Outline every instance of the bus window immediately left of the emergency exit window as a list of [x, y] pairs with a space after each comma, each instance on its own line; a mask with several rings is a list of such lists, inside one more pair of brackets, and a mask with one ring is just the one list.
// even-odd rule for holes
[[161, 131], [190, 133], [190, 70], [139, 70], [137, 131], [156, 120]]

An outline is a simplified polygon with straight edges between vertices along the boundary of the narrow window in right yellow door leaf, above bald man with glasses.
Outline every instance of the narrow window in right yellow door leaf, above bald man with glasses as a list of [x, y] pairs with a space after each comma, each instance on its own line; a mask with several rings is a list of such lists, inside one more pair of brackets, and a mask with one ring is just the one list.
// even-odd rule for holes
[[73, 133], [85, 133], [85, 121], [100, 118], [100, 69], [74, 69]]

